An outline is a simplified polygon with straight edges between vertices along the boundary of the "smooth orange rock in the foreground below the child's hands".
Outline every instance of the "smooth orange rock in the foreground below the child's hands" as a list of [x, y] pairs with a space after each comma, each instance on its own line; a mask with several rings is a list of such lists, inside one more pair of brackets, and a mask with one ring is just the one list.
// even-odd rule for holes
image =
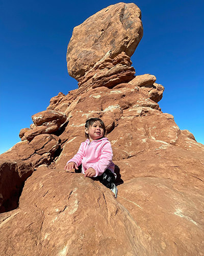
[[61, 169], [34, 172], [19, 208], [3, 214], [0, 223], [5, 255], [156, 255], [150, 234], [110, 189]]

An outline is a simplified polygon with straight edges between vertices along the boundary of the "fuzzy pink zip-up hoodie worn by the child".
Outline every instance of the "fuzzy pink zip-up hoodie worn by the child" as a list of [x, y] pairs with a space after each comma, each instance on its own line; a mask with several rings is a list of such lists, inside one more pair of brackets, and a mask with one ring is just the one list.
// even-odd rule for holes
[[107, 138], [101, 138], [99, 140], [82, 142], [78, 153], [71, 158], [67, 163], [74, 162], [79, 166], [82, 163], [82, 173], [85, 174], [85, 170], [89, 167], [94, 168], [96, 176], [99, 176], [105, 172], [106, 169], [110, 169], [114, 173], [114, 163], [112, 162], [113, 152], [111, 143]]

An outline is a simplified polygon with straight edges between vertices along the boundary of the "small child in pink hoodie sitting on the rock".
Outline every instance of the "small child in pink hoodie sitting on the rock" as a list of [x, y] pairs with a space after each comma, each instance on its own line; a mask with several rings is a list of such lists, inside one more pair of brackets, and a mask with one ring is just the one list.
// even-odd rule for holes
[[90, 178], [97, 177], [117, 197], [113, 152], [110, 141], [104, 137], [105, 132], [105, 124], [101, 119], [87, 119], [85, 124], [87, 140], [81, 143], [78, 153], [67, 162], [65, 170], [75, 168], [75, 173], [83, 173], [85, 177]]

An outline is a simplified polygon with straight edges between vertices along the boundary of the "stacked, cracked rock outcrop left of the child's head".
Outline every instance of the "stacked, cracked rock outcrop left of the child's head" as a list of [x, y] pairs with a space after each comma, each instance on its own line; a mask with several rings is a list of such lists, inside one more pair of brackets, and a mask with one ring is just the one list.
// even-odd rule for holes
[[2, 159], [23, 160], [33, 167], [50, 164], [60, 151], [60, 128], [66, 121], [66, 115], [59, 111], [45, 110], [32, 116], [33, 124], [20, 130], [21, 142], [1, 155]]

